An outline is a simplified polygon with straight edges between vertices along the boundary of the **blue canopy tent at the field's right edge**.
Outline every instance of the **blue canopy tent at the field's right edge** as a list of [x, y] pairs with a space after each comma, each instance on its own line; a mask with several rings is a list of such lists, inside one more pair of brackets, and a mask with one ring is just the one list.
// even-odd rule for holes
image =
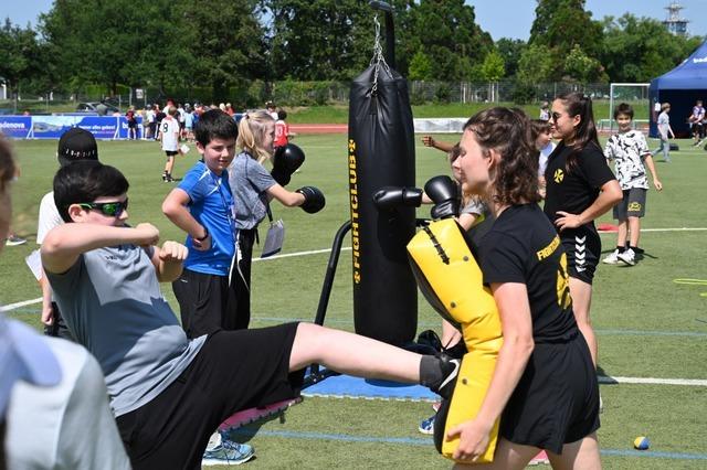
[[707, 42], [671, 72], [651, 81], [651, 137], [658, 137], [656, 103], [671, 104], [671, 127], [677, 137], [689, 136], [687, 118], [697, 99], [707, 103]]

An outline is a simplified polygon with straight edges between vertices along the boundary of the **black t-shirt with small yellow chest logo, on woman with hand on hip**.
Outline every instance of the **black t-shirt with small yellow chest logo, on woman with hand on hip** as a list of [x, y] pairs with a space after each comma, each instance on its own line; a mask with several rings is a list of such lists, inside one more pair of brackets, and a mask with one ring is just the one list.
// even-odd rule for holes
[[558, 217], [557, 211], [581, 214], [599, 197], [600, 188], [615, 180], [599, 146], [589, 143], [580, 152], [577, 165], [568, 170], [567, 157], [571, 150], [560, 142], [548, 158], [545, 213], [551, 222]]

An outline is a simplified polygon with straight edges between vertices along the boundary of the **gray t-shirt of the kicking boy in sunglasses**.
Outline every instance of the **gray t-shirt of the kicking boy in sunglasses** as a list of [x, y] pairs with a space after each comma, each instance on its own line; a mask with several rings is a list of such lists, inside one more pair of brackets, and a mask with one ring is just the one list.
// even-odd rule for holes
[[116, 416], [167, 388], [207, 338], [187, 339], [149, 255], [135, 245], [98, 248], [64, 274], [46, 274], [68, 329], [101, 364]]

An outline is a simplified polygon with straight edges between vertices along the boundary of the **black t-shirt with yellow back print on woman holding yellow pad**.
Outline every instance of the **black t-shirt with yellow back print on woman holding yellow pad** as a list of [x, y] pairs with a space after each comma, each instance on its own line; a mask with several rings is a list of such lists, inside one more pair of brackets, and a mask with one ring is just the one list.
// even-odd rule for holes
[[513, 205], [502, 212], [475, 253], [484, 284], [527, 286], [536, 342], [568, 341], [577, 333], [567, 255], [537, 204]]

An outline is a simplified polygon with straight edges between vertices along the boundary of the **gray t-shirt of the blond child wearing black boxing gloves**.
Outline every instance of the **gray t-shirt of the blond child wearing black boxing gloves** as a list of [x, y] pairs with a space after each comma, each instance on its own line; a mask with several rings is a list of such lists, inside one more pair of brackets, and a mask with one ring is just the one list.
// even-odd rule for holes
[[229, 167], [229, 185], [233, 191], [235, 227], [254, 228], [267, 213], [267, 190], [276, 184], [265, 168], [241, 152]]

